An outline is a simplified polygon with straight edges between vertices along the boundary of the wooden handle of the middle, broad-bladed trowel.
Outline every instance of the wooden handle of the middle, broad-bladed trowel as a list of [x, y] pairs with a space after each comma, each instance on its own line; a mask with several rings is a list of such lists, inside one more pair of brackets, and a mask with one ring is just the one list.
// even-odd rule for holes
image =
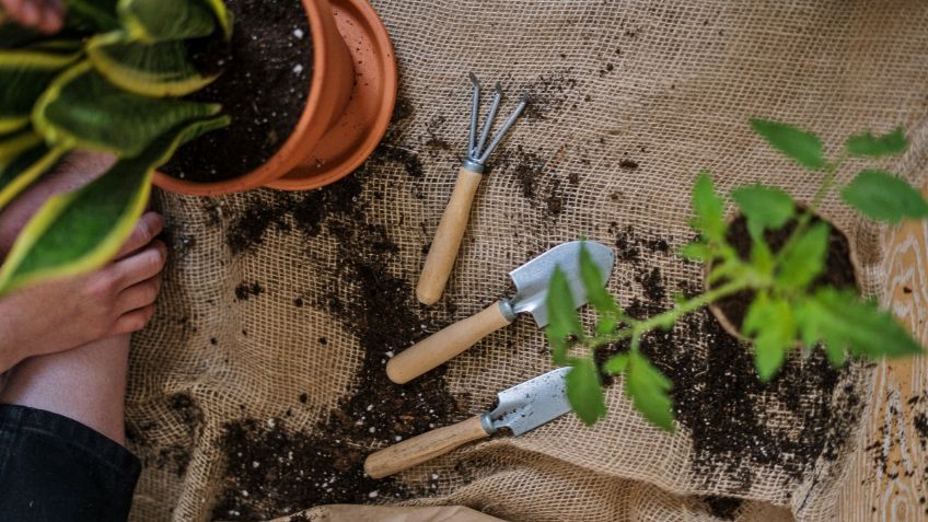
[[396, 384], [404, 384], [453, 359], [478, 340], [512, 323], [514, 316], [507, 317], [502, 313], [503, 306], [509, 304], [497, 301], [477, 315], [454, 323], [403, 350], [386, 363], [386, 376]]

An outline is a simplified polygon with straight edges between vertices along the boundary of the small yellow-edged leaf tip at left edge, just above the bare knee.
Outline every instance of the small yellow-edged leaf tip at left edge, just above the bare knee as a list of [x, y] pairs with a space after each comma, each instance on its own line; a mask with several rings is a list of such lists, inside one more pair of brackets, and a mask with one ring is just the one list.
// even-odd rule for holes
[[0, 137], [0, 209], [54, 167], [63, 153], [46, 146], [31, 129]]

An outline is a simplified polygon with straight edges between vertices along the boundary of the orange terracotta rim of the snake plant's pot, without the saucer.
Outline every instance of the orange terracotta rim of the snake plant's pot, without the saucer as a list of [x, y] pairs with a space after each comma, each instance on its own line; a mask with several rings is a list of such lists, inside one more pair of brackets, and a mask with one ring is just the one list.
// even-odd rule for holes
[[305, 142], [305, 134], [312, 128], [311, 124], [313, 123], [312, 120], [323, 95], [322, 81], [324, 78], [327, 78], [328, 70], [332, 68], [326, 51], [329, 43], [325, 38], [326, 32], [322, 22], [322, 3], [328, 5], [326, 0], [302, 0], [303, 10], [310, 23], [310, 35], [313, 39], [313, 78], [310, 81], [309, 96], [303, 105], [300, 119], [297, 121], [287, 141], [283, 142], [277, 152], [252, 172], [231, 179], [193, 182], [155, 171], [153, 177], [155, 185], [173, 193], [196, 196], [218, 196], [258, 188], [272, 179], [286, 175], [300, 163], [302, 159], [300, 149]]

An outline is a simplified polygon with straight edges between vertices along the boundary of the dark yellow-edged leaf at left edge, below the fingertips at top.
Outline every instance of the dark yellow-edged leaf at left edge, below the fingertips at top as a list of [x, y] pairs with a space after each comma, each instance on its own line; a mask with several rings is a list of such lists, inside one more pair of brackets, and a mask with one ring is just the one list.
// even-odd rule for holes
[[0, 135], [25, 127], [36, 100], [78, 54], [0, 50]]

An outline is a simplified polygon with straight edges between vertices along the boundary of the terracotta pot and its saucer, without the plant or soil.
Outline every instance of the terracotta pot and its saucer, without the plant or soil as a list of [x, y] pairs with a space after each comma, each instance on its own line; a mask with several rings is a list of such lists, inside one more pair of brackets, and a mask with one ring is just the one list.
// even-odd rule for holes
[[[313, 38], [313, 78], [303, 114], [283, 146], [262, 166], [233, 179], [197, 183], [155, 172], [156, 186], [197, 196], [260, 186], [304, 190], [340, 179], [373, 152], [396, 100], [396, 62], [386, 30], [366, 0], [302, 1]], [[378, 67], [378, 81], [356, 81], [356, 62]], [[325, 148], [332, 143], [351, 150], [327, 162], [332, 154]], [[275, 184], [294, 169], [287, 182]]]

